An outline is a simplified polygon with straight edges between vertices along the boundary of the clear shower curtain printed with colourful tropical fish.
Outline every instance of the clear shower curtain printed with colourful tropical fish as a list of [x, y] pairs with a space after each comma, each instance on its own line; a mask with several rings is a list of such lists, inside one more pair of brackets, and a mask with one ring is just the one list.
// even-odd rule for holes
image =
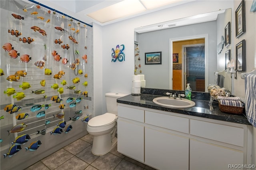
[[92, 27], [40, 4], [0, 5], [0, 168], [23, 169], [88, 133]]

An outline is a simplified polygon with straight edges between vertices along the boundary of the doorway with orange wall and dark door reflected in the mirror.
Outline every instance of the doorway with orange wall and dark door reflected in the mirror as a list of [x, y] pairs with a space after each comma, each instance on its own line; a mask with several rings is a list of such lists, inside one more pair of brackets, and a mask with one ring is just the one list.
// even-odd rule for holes
[[205, 38], [172, 41], [172, 54], [178, 55], [178, 62], [172, 55], [172, 89], [185, 90], [190, 83], [192, 91], [205, 91]]

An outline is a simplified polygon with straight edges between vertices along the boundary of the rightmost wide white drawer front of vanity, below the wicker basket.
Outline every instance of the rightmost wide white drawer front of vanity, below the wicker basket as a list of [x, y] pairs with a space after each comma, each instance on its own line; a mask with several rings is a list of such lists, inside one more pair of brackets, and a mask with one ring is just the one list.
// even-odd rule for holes
[[244, 146], [244, 128], [190, 119], [190, 134], [228, 144]]

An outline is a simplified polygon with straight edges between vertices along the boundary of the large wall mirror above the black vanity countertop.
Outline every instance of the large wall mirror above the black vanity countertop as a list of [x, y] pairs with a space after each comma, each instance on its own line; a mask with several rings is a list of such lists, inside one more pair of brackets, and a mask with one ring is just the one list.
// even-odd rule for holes
[[[228, 22], [231, 9], [135, 28], [135, 74], [145, 75], [147, 88], [184, 90], [190, 83], [192, 91], [207, 92], [219, 78], [219, 85], [231, 90], [227, 71], [221, 78], [215, 75], [225, 70], [225, 52], [232, 48], [222, 38]], [[161, 64], [144, 64], [145, 53], [157, 51]]]

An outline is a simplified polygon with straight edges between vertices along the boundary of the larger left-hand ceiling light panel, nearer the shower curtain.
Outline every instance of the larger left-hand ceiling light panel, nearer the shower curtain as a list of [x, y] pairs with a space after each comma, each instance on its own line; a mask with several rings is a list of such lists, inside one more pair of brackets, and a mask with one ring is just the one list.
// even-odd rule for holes
[[109, 22], [123, 17], [146, 11], [139, 0], [123, 0], [106, 8], [87, 14], [90, 18], [100, 23]]

